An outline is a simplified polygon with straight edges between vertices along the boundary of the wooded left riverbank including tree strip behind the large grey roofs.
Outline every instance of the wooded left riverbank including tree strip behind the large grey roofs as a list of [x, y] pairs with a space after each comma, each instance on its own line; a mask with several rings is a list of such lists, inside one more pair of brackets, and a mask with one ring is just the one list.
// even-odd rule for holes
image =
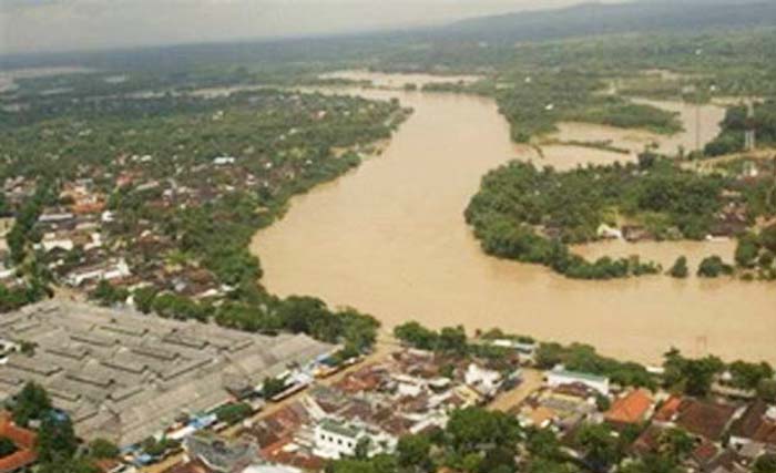
[[[32, 192], [2, 202], [3, 213], [16, 215], [6, 263], [24, 284], [3, 285], [0, 309], [51, 297], [79, 267], [121, 258], [131, 277], [78, 290], [101, 305], [133, 304], [165, 318], [308, 333], [340, 343], [340, 360], [370, 349], [379, 326], [374, 317], [329, 309], [314, 297], [267, 294], [248, 247], [292, 196], [358, 166], [410, 110], [398, 101], [274, 89], [210, 99], [47, 95], [31, 102], [20, 120], [0, 121], [2, 177]], [[52, 104], [64, 116], [53, 119]], [[47, 250], [47, 234], [78, 233], [40, 218], [70, 215], [73, 189], [102, 210], [67, 218], [101, 228], [101, 244]]]

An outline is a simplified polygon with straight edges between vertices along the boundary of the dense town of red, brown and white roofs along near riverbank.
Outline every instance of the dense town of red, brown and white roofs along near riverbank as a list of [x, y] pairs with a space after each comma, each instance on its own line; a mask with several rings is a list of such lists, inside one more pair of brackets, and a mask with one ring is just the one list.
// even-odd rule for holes
[[[747, 472], [758, 457], [776, 452], [776, 405], [725, 389], [729, 373], [715, 381], [712, 394], [696, 398], [617, 385], [562, 366], [538, 370], [535, 347], [491, 342], [512, 351], [509, 368], [396, 347], [381, 360], [360, 363], [336, 382], [315, 383], [242, 422], [228, 438], [201, 432], [184, 439], [180, 462], [153, 471], [323, 471], [331, 460], [391, 454], [404, 435], [432, 435], [452, 412], [480, 408], [502, 409], [525, 430], [552, 432], [580, 461], [586, 452], [575, 433], [591, 424], [627, 439], [625, 463], [662, 452], [666, 438], [678, 432], [685, 440], [683, 471]], [[518, 464], [529, 461], [524, 454]]]

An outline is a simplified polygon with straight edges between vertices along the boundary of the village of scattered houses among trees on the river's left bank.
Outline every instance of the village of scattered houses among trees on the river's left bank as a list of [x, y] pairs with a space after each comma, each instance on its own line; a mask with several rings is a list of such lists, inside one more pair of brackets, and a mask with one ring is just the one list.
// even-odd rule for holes
[[[195, 114], [180, 112], [162, 125], [178, 144], [153, 154], [137, 151], [165, 131], [142, 120], [108, 152], [91, 145], [113, 133], [106, 124], [44, 128], [45, 140], [64, 135], [72, 144], [69, 153], [43, 160], [57, 163], [57, 177], [45, 177], [47, 164], [22, 164], [28, 154], [43, 153], [45, 140], [31, 148], [9, 144], [8, 158], [20, 168], [6, 169], [1, 183], [2, 287], [17, 294], [53, 284], [106, 305], [137, 290], [172, 295], [178, 306], [215, 304], [258, 279], [258, 261], [246, 247], [289, 196], [375, 153], [374, 143], [409, 113], [392, 102], [279, 92], [248, 96], [247, 105], [231, 97], [196, 102]], [[256, 119], [254, 110], [264, 115]], [[246, 116], [265, 124], [258, 132], [245, 128]], [[191, 134], [203, 124], [228, 140], [193, 143]], [[42, 296], [27, 292], [27, 302]], [[9, 309], [23, 302], [3, 299]]]

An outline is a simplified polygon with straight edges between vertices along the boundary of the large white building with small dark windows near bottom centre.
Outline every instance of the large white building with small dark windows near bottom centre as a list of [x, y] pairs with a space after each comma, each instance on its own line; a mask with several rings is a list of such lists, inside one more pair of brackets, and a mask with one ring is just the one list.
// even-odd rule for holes
[[397, 439], [377, 429], [358, 422], [344, 422], [327, 418], [315, 426], [314, 453], [323, 459], [338, 460], [356, 454], [359, 442], [366, 443], [368, 455], [390, 452], [396, 448]]

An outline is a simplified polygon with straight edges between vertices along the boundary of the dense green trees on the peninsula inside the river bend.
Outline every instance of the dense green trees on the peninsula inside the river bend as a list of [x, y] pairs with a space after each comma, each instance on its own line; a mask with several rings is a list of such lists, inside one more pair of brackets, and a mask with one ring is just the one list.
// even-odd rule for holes
[[626, 218], [654, 238], [704, 238], [722, 207], [725, 181], [666, 160], [569, 172], [512, 162], [490, 172], [466, 210], [489, 255], [541, 264], [571, 278], [611, 279], [656, 274], [635, 258], [589, 263], [566, 244], [598, 239], [602, 224]]

